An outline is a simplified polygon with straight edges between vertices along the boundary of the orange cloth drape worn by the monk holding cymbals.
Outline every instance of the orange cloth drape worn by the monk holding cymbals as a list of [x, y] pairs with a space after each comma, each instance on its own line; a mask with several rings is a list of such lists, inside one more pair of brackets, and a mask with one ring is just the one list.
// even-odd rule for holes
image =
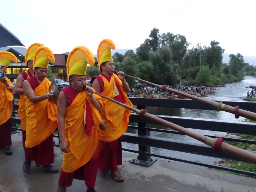
[[[35, 95], [40, 96], [49, 92], [51, 82], [45, 78], [35, 89]], [[57, 106], [48, 99], [38, 103], [26, 100], [26, 148], [32, 148], [47, 139], [57, 128]]]

